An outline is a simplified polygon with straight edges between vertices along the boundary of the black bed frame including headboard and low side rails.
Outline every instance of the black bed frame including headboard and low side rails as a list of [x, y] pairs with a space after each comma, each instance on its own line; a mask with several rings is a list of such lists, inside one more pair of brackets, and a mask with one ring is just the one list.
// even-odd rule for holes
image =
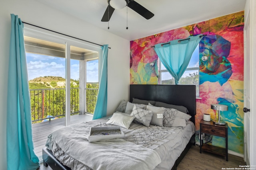
[[[190, 120], [195, 123], [196, 86], [194, 85], [131, 84], [130, 102], [132, 102], [132, 98], [185, 106], [188, 109], [188, 114], [192, 116]], [[180, 157], [176, 160], [172, 170], [176, 170], [182, 158], [184, 158], [190, 147], [194, 144], [194, 139], [195, 136], [193, 135]], [[44, 166], [49, 165], [53, 170], [71, 170], [57, 160], [50, 150], [44, 148], [42, 154]]]

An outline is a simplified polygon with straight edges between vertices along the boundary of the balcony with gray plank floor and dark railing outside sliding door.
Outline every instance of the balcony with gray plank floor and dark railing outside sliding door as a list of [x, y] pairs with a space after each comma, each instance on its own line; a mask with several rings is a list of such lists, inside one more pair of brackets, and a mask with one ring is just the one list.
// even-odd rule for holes
[[[71, 124], [92, 120], [98, 89], [86, 88], [85, 99], [80, 98], [80, 88], [70, 89]], [[34, 150], [39, 159], [48, 135], [65, 126], [65, 88], [30, 90], [31, 118]], [[85, 111], [80, 106], [85, 104]]]

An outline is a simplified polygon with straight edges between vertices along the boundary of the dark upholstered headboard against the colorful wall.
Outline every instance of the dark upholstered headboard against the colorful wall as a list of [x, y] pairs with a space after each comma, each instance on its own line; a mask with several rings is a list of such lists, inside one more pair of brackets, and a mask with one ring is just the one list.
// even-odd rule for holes
[[188, 114], [192, 116], [191, 121], [195, 123], [195, 85], [130, 84], [130, 102], [132, 102], [132, 98], [185, 106], [188, 109]]

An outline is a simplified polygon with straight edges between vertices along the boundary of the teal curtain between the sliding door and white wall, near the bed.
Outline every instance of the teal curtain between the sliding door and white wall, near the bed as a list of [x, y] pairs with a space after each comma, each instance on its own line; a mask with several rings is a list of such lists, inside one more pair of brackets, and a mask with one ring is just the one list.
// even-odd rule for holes
[[108, 45], [103, 45], [102, 68], [98, 98], [92, 119], [99, 119], [107, 115], [108, 99]]

